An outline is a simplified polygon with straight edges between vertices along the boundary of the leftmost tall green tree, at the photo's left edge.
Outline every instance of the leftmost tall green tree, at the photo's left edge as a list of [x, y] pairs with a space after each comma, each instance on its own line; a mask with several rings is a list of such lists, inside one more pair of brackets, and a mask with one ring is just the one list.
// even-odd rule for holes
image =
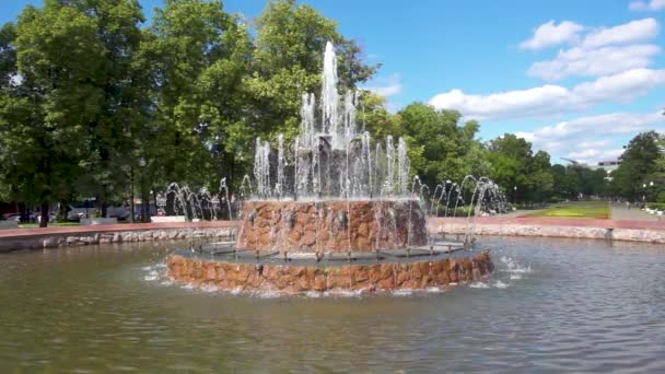
[[19, 17], [20, 83], [3, 91], [0, 108], [3, 179], [18, 200], [40, 206], [42, 226], [50, 203], [69, 198], [81, 175], [85, 125], [104, 97], [95, 34], [93, 19], [56, 0], [27, 7]]

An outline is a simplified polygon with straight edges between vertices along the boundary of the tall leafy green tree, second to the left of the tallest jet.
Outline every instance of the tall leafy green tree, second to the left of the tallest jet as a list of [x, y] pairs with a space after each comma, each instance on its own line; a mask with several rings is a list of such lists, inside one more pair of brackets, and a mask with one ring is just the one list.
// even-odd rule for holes
[[252, 59], [249, 33], [221, 1], [201, 0], [167, 2], [156, 10], [151, 32], [144, 48], [156, 65], [160, 145], [152, 147], [151, 160], [161, 175], [154, 179], [212, 189], [220, 176], [238, 173], [236, 152], [250, 160], [243, 83]]

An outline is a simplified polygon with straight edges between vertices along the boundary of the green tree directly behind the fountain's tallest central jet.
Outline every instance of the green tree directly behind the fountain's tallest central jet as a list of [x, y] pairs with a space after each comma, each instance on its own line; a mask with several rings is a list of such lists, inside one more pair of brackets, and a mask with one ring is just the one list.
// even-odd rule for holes
[[306, 4], [279, 0], [256, 20], [253, 73], [245, 81], [256, 135], [292, 140], [299, 130], [302, 94], [320, 92], [323, 54], [327, 42], [336, 47], [340, 89], [352, 90], [371, 78], [376, 67], [361, 60], [360, 47], [345, 38], [335, 21]]

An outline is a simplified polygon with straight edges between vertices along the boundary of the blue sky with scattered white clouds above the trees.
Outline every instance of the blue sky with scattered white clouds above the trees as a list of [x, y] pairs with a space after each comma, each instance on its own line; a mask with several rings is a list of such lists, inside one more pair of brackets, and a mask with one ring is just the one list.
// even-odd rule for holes
[[[150, 19], [163, 0], [140, 0]], [[457, 109], [479, 138], [506, 132], [583, 163], [615, 160], [637, 133], [665, 132], [665, 0], [300, 0], [338, 22], [365, 61], [365, 87], [396, 112]], [[28, 3], [0, 0], [0, 22]], [[228, 0], [252, 22], [265, 0]]]

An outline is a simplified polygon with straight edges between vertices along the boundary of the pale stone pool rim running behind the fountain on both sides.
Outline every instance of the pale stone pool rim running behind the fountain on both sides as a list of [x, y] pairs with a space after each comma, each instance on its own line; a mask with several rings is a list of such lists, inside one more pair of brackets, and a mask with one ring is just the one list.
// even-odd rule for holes
[[[476, 235], [568, 237], [614, 239], [665, 244], [665, 222], [582, 220], [538, 220], [479, 218], [474, 225]], [[466, 219], [430, 219], [428, 230], [433, 234], [464, 234]], [[191, 238], [226, 238], [235, 233], [230, 221], [192, 223], [141, 223], [85, 227], [16, 229], [0, 231], [0, 253], [19, 249], [45, 249], [67, 246], [168, 241]]]

